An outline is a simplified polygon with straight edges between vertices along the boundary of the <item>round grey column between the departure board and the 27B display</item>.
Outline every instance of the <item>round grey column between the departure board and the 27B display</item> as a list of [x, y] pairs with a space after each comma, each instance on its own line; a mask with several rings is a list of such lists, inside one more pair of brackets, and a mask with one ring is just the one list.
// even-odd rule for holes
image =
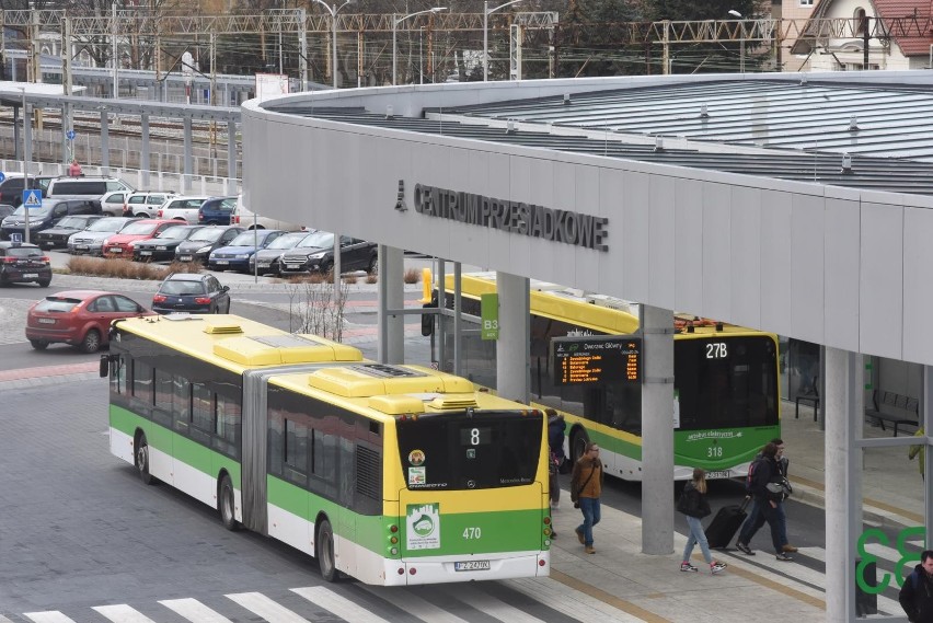
[[673, 312], [642, 305], [642, 552], [673, 552]]

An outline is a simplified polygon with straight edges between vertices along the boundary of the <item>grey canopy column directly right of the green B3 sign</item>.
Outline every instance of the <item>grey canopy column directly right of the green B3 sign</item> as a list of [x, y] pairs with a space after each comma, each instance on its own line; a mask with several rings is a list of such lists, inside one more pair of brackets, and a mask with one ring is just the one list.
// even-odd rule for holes
[[531, 400], [530, 297], [528, 277], [496, 273], [499, 293], [499, 339], [496, 344], [496, 389], [503, 397], [528, 404]]

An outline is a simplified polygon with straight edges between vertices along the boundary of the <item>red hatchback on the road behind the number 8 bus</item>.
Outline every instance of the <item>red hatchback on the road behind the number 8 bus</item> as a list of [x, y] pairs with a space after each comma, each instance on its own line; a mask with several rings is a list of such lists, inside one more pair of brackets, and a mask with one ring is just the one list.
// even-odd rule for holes
[[33, 303], [26, 313], [26, 338], [36, 350], [61, 343], [83, 353], [107, 346], [111, 322], [153, 315], [133, 299], [101, 290], [67, 290]]

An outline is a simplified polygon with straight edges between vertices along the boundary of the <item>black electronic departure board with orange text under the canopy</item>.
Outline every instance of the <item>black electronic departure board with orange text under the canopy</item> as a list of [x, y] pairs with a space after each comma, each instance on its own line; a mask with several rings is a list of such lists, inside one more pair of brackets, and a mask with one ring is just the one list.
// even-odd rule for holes
[[642, 381], [642, 338], [629, 335], [555, 337], [554, 384]]

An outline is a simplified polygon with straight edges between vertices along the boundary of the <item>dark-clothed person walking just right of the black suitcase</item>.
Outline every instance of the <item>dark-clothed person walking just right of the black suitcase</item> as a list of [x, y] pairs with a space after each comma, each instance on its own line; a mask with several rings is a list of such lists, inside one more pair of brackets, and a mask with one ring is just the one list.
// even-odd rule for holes
[[[776, 441], [780, 441], [776, 440]], [[783, 442], [780, 443], [783, 453]], [[741, 526], [736, 547], [740, 552], [753, 556], [749, 541], [767, 522], [771, 528], [771, 543], [774, 545], [774, 557], [781, 562], [793, 561], [790, 553], [796, 547], [787, 543], [786, 517], [784, 515], [784, 498], [790, 494], [790, 483], [786, 482], [779, 457], [779, 443], [769, 441], [761, 454], [749, 465], [749, 477], [746, 484], [752, 498], [752, 509]], [[784, 464], [786, 470], [786, 464]], [[786, 483], [786, 484], [785, 484]]]

